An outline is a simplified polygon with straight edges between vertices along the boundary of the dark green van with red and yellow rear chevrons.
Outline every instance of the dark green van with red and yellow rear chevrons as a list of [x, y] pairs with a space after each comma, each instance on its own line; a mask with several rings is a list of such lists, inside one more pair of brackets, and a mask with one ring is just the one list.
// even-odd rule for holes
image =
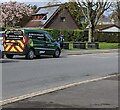
[[5, 31], [4, 50], [7, 58], [14, 55], [25, 55], [27, 59], [40, 55], [58, 58], [61, 54], [60, 44], [47, 31], [32, 29]]

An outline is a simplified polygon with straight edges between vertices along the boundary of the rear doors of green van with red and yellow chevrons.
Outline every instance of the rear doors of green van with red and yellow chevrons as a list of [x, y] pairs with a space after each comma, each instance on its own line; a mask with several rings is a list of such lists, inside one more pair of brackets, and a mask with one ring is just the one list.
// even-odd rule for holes
[[21, 30], [8, 30], [5, 32], [5, 51], [21, 53], [24, 47], [24, 35]]

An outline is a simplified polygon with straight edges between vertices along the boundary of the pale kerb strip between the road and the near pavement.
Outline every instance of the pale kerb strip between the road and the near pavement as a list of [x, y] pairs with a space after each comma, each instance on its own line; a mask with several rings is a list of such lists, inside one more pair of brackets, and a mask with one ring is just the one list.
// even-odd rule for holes
[[44, 95], [44, 94], [48, 94], [48, 93], [55, 92], [55, 91], [58, 91], [58, 90], [66, 89], [66, 88], [69, 88], [69, 87], [73, 87], [73, 86], [77, 86], [77, 85], [81, 85], [81, 84], [86, 84], [86, 83], [89, 83], [89, 82], [100, 81], [100, 80], [115, 77], [115, 76], [117, 76], [117, 75], [116, 74], [115, 75], [108, 75], [108, 76], [99, 77], [99, 78], [96, 78], [96, 79], [80, 81], [80, 82], [71, 83], [71, 84], [67, 84], [67, 85], [63, 85], [63, 86], [59, 86], [59, 87], [55, 87], [55, 88], [51, 88], [51, 89], [47, 89], [47, 90], [43, 90], [43, 91], [37, 91], [37, 92], [33, 92], [33, 93], [30, 93], [30, 94], [26, 94], [26, 95], [21, 95], [21, 96], [5, 99], [5, 100], [0, 101], [0, 106], [5, 105], [5, 104], [9, 104], [9, 103], [13, 103], [13, 102], [16, 102], [16, 101], [20, 101], [20, 100], [23, 100], [23, 99], [31, 98], [31, 97], [34, 97], [34, 96]]

